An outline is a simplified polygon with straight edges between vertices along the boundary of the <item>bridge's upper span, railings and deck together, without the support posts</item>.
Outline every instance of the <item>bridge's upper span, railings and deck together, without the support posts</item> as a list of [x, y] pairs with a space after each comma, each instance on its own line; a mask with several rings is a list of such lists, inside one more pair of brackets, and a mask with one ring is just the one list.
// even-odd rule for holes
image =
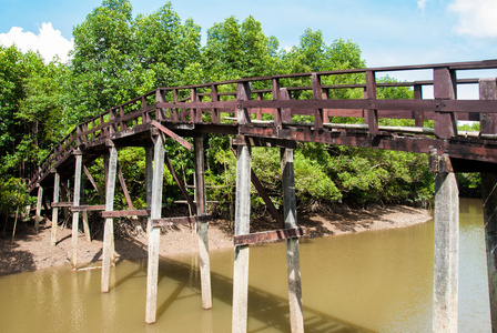
[[[160, 88], [79, 124], [41, 163], [30, 190], [51, 181], [53, 170], [72, 174], [74, 150], [89, 162], [119, 147], [150, 144], [156, 121], [182, 137], [242, 134], [276, 140], [322, 142], [363, 148], [446, 154], [465, 171], [497, 163], [496, 80], [457, 80], [458, 71], [496, 69], [497, 60], [430, 65], [338, 70], [250, 78], [207, 84]], [[382, 83], [376, 73], [433, 70], [433, 80]], [[358, 83], [341, 83], [354, 80]], [[460, 84], [480, 84], [479, 100], [457, 100]], [[488, 83], [489, 82], [489, 83]], [[434, 99], [423, 99], [433, 85]], [[377, 99], [377, 90], [409, 87], [414, 99]], [[344, 91], [362, 99], [339, 99]], [[486, 92], [485, 92], [486, 91]], [[239, 124], [244, 112], [248, 122]], [[353, 119], [351, 124], [347, 119]], [[382, 125], [384, 120], [409, 125]], [[460, 132], [457, 121], [479, 121], [479, 132]], [[466, 161], [471, 161], [467, 163]]]

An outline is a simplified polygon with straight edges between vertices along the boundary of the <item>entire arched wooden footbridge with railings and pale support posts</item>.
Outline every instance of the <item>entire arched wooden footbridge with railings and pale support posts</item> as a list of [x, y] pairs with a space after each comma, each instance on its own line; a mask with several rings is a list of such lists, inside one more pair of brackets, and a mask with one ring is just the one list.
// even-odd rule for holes
[[[69, 206], [73, 214], [73, 264], [77, 263], [79, 215], [100, 210], [105, 218], [102, 262], [102, 292], [109, 291], [113, 258], [113, 218], [149, 216], [149, 269], [146, 286], [148, 323], [155, 322], [160, 226], [197, 223], [201, 256], [202, 306], [210, 309], [211, 274], [204, 184], [203, 137], [232, 135], [236, 148], [235, 258], [233, 280], [233, 332], [246, 331], [248, 245], [286, 240], [288, 301], [292, 332], [303, 332], [303, 303], [293, 150], [297, 141], [376, 148], [426, 153], [436, 173], [435, 189], [435, 268], [434, 331], [457, 331], [458, 275], [458, 190], [455, 172], [481, 172], [487, 241], [488, 276], [493, 327], [497, 330], [497, 81], [476, 75], [457, 79], [462, 71], [497, 69], [497, 60], [338, 70], [316, 73], [250, 78], [189, 87], [160, 88], [79, 124], [40, 164], [30, 180], [30, 191], [38, 189], [36, 223], [40, 220], [43, 190], [53, 194], [52, 243], [57, 243], [58, 211]], [[378, 73], [430, 71], [425, 81], [381, 83]], [[356, 84], [347, 78], [359, 78]], [[477, 84], [479, 99], [458, 100], [457, 87]], [[414, 99], [377, 99], [377, 89], [408, 87]], [[433, 87], [433, 99], [424, 99], [425, 87]], [[344, 91], [357, 90], [364, 98], [339, 99]], [[352, 118], [354, 121], [344, 121]], [[387, 125], [387, 119], [410, 120], [409, 125]], [[480, 131], [459, 131], [458, 121], [477, 121]], [[428, 125], [429, 124], [429, 125]], [[183, 138], [193, 138], [193, 145]], [[164, 138], [174, 144], [194, 149], [195, 198], [164, 155]], [[120, 148], [143, 147], [146, 162], [146, 210], [134, 210], [118, 168]], [[282, 151], [283, 215], [251, 172], [251, 147], [278, 148]], [[105, 160], [105, 191], [98, 190], [85, 168], [99, 157]], [[165, 218], [162, 212], [164, 163], [182, 190], [195, 216]], [[81, 204], [83, 172], [99, 191], [101, 205]], [[119, 176], [130, 210], [114, 211], [115, 179]], [[73, 179], [73, 201], [60, 202], [62, 180]], [[251, 180], [278, 222], [275, 231], [250, 233]], [[45, 191], [45, 192], [49, 192]]]

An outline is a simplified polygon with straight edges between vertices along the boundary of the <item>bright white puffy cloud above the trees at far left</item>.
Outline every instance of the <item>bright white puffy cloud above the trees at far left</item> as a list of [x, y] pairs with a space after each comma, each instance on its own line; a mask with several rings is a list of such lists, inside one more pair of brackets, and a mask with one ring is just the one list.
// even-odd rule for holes
[[38, 50], [47, 62], [55, 56], [59, 56], [62, 62], [67, 62], [69, 51], [74, 47], [74, 40], [63, 38], [60, 30], [53, 29], [52, 23], [49, 22], [41, 24], [39, 34], [12, 27], [8, 33], [0, 33], [0, 44], [6, 47], [16, 44], [23, 52]]

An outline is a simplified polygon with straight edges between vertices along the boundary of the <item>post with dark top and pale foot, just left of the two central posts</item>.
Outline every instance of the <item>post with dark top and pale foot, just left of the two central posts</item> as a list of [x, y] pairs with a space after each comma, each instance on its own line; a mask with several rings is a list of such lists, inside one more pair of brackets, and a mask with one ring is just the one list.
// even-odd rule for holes
[[[195, 148], [195, 200], [196, 215], [207, 214], [207, 199], [205, 194], [205, 167], [204, 167], [204, 142], [203, 138], [194, 138]], [[202, 307], [212, 307], [211, 295], [211, 263], [209, 259], [209, 222], [197, 223], [200, 279], [202, 285]]]

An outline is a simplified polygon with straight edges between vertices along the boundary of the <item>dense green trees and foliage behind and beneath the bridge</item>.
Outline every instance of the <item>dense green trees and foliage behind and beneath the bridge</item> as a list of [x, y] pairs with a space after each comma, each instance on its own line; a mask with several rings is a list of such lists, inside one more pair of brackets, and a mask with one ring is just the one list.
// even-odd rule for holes
[[[47, 62], [39, 53], [0, 47], [3, 183], [29, 176], [79, 122], [158, 87], [365, 67], [356, 43], [341, 38], [327, 43], [320, 30], [306, 29], [297, 46], [281, 50], [277, 39], [265, 36], [252, 16], [242, 22], [230, 17], [215, 23], [202, 46], [201, 27], [192, 19], [181, 20], [171, 2], [151, 14], [133, 18], [129, 0], [104, 0], [74, 28], [73, 36], [70, 63], [57, 59]], [[364, 77], [351, 74], [333, 80], [326, 83], [358, 83], [364, 82]], [[334, 98], [342, 99], [362, 95], [357, 90], [334, 93]], [[407, 88], [378, 90], [381, 98], [412, 94]], [[221, 210], [227, 210], [234, 196], [235, 160], [226, 138], [207, 138], [206, 147], [209, 195], [221, 202]], [[169, 153], [184, 181], [192, 183], [192, 155], [173, 148]], [[138, 208], [144, 205], [143, 155], [143, 150], [131, 148], [120, 154]], [[423, 203], [433, 193], [433, 176], [424, 155], [301, 143], [295, 159], [301, 204]], [[278, 204], [278, 152], [254, 149], [253, 160], [256, 173]], [[98, 160], [92, 167], [100, 183], [102, 164]], [[168, 172], [164, 183], [169, 203], [179, 199]], [[87, 198], [97, 200], [91, 191]], [[254, 204], [258, 202], [254, 195]]]

